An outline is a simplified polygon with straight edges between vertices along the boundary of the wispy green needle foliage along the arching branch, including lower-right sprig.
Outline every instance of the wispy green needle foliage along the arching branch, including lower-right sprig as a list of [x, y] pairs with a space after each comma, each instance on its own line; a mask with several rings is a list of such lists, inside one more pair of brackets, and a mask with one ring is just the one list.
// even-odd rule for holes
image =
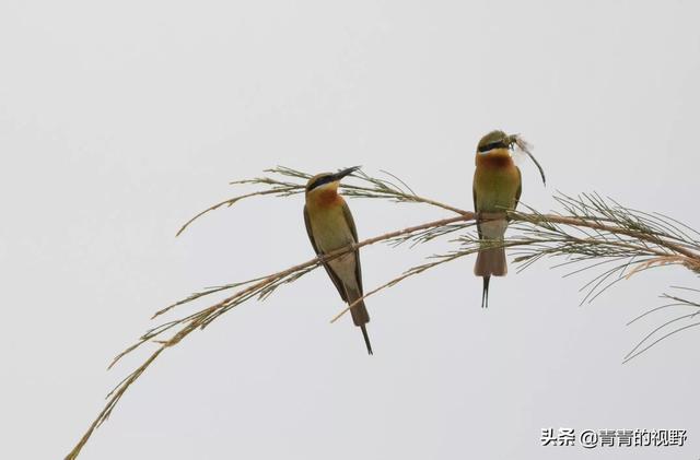
[[[185, 223], [177, 235], [182, 234], [200, 216], [220, 208], [229, 208], [241, 200], [266, 196], [285, 198], [302, 193], [306, 180], [311, 177], [310, 174], [282, 166], [268, 169], [265, 173], [267, 175], [262, 177], [231, 182], [235, 186], [254, 186], [257, 187], [257, 190], [235, 196], [203, 210]], [[681, 266], [700, 274], [700, 233], [664, 214], [626, 208], [596, 193], [579, 197], [559, 193], [555, 198], [562, 209], [561, 212], [542, 214], [529, 207], [524, 207], [526, 212], [504, 210], [511, 220], [510, 228], [514, 235], [500, 241], [479, 241], [474, 228], [476, 219], [474, 212], [421, 197], [406, 182], [389, 173], [383, 172], [383, 178], [376, 178], [362, 172], [355, 172], [352, 174], [352, 177], [357, 179], [355, 182], [340, 185], [342, 194], [350, 198], [384, 199], [399, 203], [422, 203], [448, 211], [452, 215], [368, 238], [329, 255], [310, 259], [265, 276], [209, 287], [156, 311], [153, 318], [160, 318], [185, 304], [208, 298], [213, 294], [229, 293], [222, 300], [194, 314], [164, 321], [147, 330], [136, 343], [114, 358], [109, 367], [145, 343], [156, 345], [150, 356], [107, 394], [105, 408], [66, 459], [78, 457], [94, 429], [109, 417], [124, 393], [166, 349], [179, 344], [191, 332], [203, 330], [232, 308], [252, 299], [267, 298], [279, 287], [293, 283], [318, 268], [323, 260], [330, 260], [375, 243], [385, 243], [392, 247], [407, 244], [412, 247], [451, 237], [450, 241], [454, 248], [446, 253], [435, 255], [425, 262], [409, 268], [368, 292], [364, 297], [374, 295], [438, 266], [475, 253], [479, 248], [485, 247], [510, 248], [511, 255], [515, 256], [518, 271], [530, 267], [542, 258], [555, 258], [559, 259], [555, 267], [570, 269], [564, 274], [565, 276], [581, 272], [593, 273], [592, 280], [582, 287], [582, 291], [585, 292], [582, 303], [592, 302], [616, 283], [653, 268]], [[495, 216], [488, 214], [479, 216], [481, 220], [493, 217]], [[680, 290], [680, 287], [675, 288]], [[696, 294], [700, 293], [698, 290], [688, 287], [682, 290], [692, 291]], [[690, 312], [666, 321], [651, 331], [625, 356], [625, 362], [639, 356], [658, 342], [680, 331], [700, 326], [700, 321], [693, 322], [696, 315], [700, 315], [700, 303], [669, 294], [664, 294], [662, 297], [668, 303], [644, 312], [630, 323], [666, 308], [681, 307], [686, 310], [689, 309]], [[355, 303], [358, 302], [360, 299]], [[346, 314], [351, 306], [339, 311], [331, 321]]]

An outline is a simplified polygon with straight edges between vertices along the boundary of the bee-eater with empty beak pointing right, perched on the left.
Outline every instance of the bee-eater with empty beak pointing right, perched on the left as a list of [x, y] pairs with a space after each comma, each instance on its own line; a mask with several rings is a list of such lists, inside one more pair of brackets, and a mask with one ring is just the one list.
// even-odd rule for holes
[[[360, 167], [342, 169], [338, 173], [318, 174], [306, 184], [306, 204], [304, 205], [304, 222], [306, 233], [316, 255], [322, 256], [334, 250], [358, 243], [358, 231], [346, 200], [338, 194], [340, 179], [358, 170]], [[360, 251], [354, 250], [340, 257], [323, 262], [330, 280], [338, 288], [340, 297], [352, 304], [363, 296], [362, 272], [360, 270]], [[372, 345], [368, 335], [366, 323], [370, 315], [364, 300], [355, 304], [351, 309], [354, 326], [362, 329], [368, 353], [372, 354]]]

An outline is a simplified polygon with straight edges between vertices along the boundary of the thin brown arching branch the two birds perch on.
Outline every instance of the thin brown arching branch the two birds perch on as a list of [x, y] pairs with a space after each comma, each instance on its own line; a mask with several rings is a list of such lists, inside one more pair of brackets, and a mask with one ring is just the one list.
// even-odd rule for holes
[[[305, 178], [307, 175], [303, 174], [303, 173], [299, 173], [299, 172], [294, 172], [292, 169], [285, 169], [285, 168], [278, 168], [272, 170], [275, 173], [280, 173], [281, 174], [287, 174], [296, 178]], [[361, 177], [362, 178], [362, 177]], [[279, 271], [277, 273], [272, 273], [269, 274], [267, 276], [262, 276], [262, 278], [258, 278], [255, 280], [249, 280], [247, 282], [244, 283], [235, 283], [235, 284], [231, 284], [231, 285], [226, 285], [226, 286], [221, 286], [221, 287], [215, 287], [215, 288], [211, 288], [208, 290], [203, 293], [199, 293], [199, 294], [194, 294], [189, 297], [187, 297], [184, 300], [180, 300], [176, 304], [171, 305], [170, 307], [166, 307], [162, 310], [159, 310], [154, 317], [158, 317], [160, 315], [165, 314], [166, 311], [170, 311], [172, 308], [174, 308], [175, 306], [182, 305], [184, 303], [194, 300], [196, 298], [199, 298], [201, 296], [205, 295], [209, 295], [209, 294], [213, 294], [215, 292], [221, 292], [228, 288], [234, 288], [234, 287], [238, 287], [240, 290], [237, 292], [235, 292], [234, 294], [228, 296], [226, 298], [224, 298], [223, 300], [220, 300], [218, 303], [215, 303], [214, 305], [211, 305], [207, 308], [203, 308], [202, 310], [199, 310], [192, 315], [189, 315], [187, 317], [174, 320], [174, 321], [170, 321], [166, 323], [163, 323], [154, 329], [151, 329], [150, 331], [148, 331], [145, 334], [143, 334], [141, 337], [141, 339], [133, 345], [129, 346], [127, 350], [125, 350], [122, 353], [120, 353], [119, 355], [117, 355], [114, 359], [114, 362], [112, 363], [112, 365], [114, 365], [116, 362], [118, 362], [122, 356], [125, 356], [126, 354], [130, 353], [131, 351], [138, 349], [140, 345], [147, 343], [147, 342], [151, 342], [154, 341], [156, 342], [160, 346], [149, 356], [149, 358], [141, 364], [141, 366], [139, 366], [136, 370], [133, 370], [129, 376], [127, 376], [127, 378], [125, 378], [121, 382], [119, 382], [119, 385], [117, 385], [117, 387], [115, 387], [115, 389], [107, 396], [107, 402], [105, 404], [105, 408], [102, 410], [102, 412], [100, 412], [100, 414], [97, 415], [97, 417], [95, 418], [95, 421], [90, 425], [90, 427], [88, 428], [88, 430], [85, 432], [85, 434], [82, 436], [82, 438], [80, 439], [80, 441], [75, 445], [75, 447], [71, 450], [71, 452], [66, 457], [66, 459], [75, 459], [78, 457], [78, 455], [80, 453], [82, 447], [85, 445], [85, 443], [89, 440], [90, 436], [93, 434], [93, 432], [102, 424], [104, 423], [109, 415], [112, 414], [112, 411], [114, 410], [114, 408], [116, 406], [116, 404], [119, 402], [120, 398], [124, 396], [124, 393], [128, 390], [128, 388], [145, 371], [145, 369], [161, 355], [161, 353], [163, 351], [165, 351], [165, 349], [170, 347], [170, 346], [174, 346], [177, 343], [179, 343], [184, 338], [186, 338], [187, 335], [189, 335], [191, 332], [194, 332], [196, 329], [203, 329], [206, 326], [208, 326], [209, 323], [211, 323], [211, 321], [215, 320], [217, 318], [219, 318], [222, 314], [226, 312], [228, 310], [230, 310], [231, 308], [242, 304], [243, 302], [254, 298], [254, 297], [259, 297], [259, 298], [265, 298], [267, 295], [269, 295], [276, 287], [278, 287], [279, 285], [283, 284], [283, 283], [288, 283], [288, 282], [292, 282], [296, 279], [299, 279], [301, 275], [307, 273], [308, 271], [315, 269], [316, 267], [318, 267], [322, 262], [327, 261], [327, 260], [331, 260], [336, 257], [339, 257], [343, 253], [350, 252], [350, 251], [354, 251], [358, 250], [364, 246], [369, 246], [369, 245], [373, 245], [375, 243], [380, 243], [380, 241], [386, 241], [386, 240], [392, 240], [394, 238], [398, 238], [401, 236], [409, 236], [411, 237], [411, 235], [420, 235], [420, 232], [422, 231], [429, 231], [431, 228], [441, 228], [441, 227], [445, 227], [447, 225], [452, 225], [455, 223], [460, 223], [460, 222], [468, 222], [468, 221], [474, 221], [476, 219], [476, 214], [474, 212], [470, 211], [465, 211], [465, 210], [460, 210], [458, 208], [454, 208], [451, 207], [448, 204], [444, 204], [441, 203], [439, 201], [434, 201], [431, 199], [427, 199], [423, 197], [419, 197], [416, 193], [412, 192], [412, 190], [409, 189], [410, 193], [407, 192], [402, 192], [400, 189], [398, 188], [392, 188], [389, 186], [387, 186], [386, 181], [382, 181], [382, 180], [377, 180], [377, 179], [372, 179], [369, 178], [368, 176], [365, 176], [364, 178], [365, 180], [369, 180], [370, 182], [372, 182], [374, 185], [375, 188], [368, 188], [368, 187], [359, 187], [359, 186], [353, 186], [353, 185], [348, 185], [348, 186], [343, 186], [345, 190], [348, 192], [348, 194], [352, 194], [355, 193], [354, 196], [357, 197], [370, 197], [370, 198], [388, 198], [392, 200], [398, 200], [398, 201], [404, 201], [404, 202], [420, 202], [420, 203], [425, 203], [425, 204], [430, 204], [433, 207], [438, 207], [441, 209], [445, 209], [448, 210], [451, 212], [454, 212], [458, 215], [454, 216], [454, 217], [447, 217], [447, 219], [441, 219], [438, 221], [432, 221], [432, 222], [428, 222], [424, 224], [420, 224], [420, 225], [415, 225], [411, 227], [407, 227], [404, 229], [399, 229], [399, 231], [395, 231], [395, 232], [389, 232], [389, 233], [385, 233], [383, 235], [378, 235], [372, 238], [368, 238], [364, 239], [362, 241], [359, 241], [354, 245], [351, 246], [347, 246], [345, 248], [338, 249], [336, 251], [332, 251], [326, 256], [319, 256], [319, 257], [315, 257], [313, 259], [307, 260], [306, 262], [303, 263], [299, 263], [295, 266], [292, 266], [285, 270]], [[253, 193], [247, 193], [247, 194], [243, 194], [240, 197], [235, 197], [232, 198], [230, 200], [225, 200], [222, 201], [220, 203], [217, 203], [210, 208], [208, 208], [207, 210], [200, 212], [199, 214], [197, 214], [196, 216], [194, 216], [192, 219], [190, 219], [178, 232], [178, 235], [189, 225], [191, 224], [196, 219], [198, 219], [199, 216], [219, 209], [221, 207], [224, 205], [232, 205], [235, 202], [245, 199], [245, 198], [249, 198], [249, 197], [255, 197], [255, 196], [266, 196], [266, 194], [277, 194], [277, 196], [289, 196], [289, 194], [294, 194], [298, 192], [301, 192], [303, 190], [303, 186], [300, 184], [292, 184], [292, 182], [282, 182], [276, 179], [270, 179], [270, 178], [260, 178], [260, 179], [253, 179], [253, 180], [247, 180], [247, 181], [243, 181], [244, 184], [265, 184], [268, 186], [271, 186], [271, 189], [268, 190], [261, 190], [261, 191], [257, 191], [257, 192], [253, 192]], [[406, 186], [408, 187], [408, 186]], [[374, 193], [374, 194], [373, 194]], [[596, 203], [599, 204], [599, 203]], [[585, 204], [582, 204], [583, 207], [585, 207]], [[594, 205], [595, 209], [595, 205]], [[634, 251], [643, 253], [645, 256], [650, 256], [652, 257], [652, 259], [648, 259], [646, 262], [640, 262], [640, 263], [644, 263], [643, 266], [638, 266], [638, 268], [635, 268], [631, 273], [634, 274], [643, 269], [646, 268], [651, 268], [654, 266], [658, 266], [658, 264], [664, 264], [664, 263], [681, 263], [685, 267], [695, 270], [695, 271], [699, 271], [700, 272], [700, 252], [699, 252], [699, 247], [695, 244], [684, 244], [681, 243], [677, 243], [675, 240], [672, 240], [673, 238], [675, 238], [674, 234], [663, 234], [663, 233], [656, 233], [656, 232], [643, 232], [640, 229], [634, 229], [634, 228], [639, 228], [639, 227], [634, 227], [633, 225], [628, 225], [625, 226], [623, 223], [625, 221], [620, 221], [621, 223], [617, 223], [615, 222], [615, 219], [611, 219], [609, 215], [603, 215], [600, 217], [598, 216], [591, 216], [591, 215], [574, 215], [574, 216], [562, 216], [562, 215], [553, 215], [553, 214], [538, 214], [536, 212], [533, 213], [518, 213], [518, 212], [509, 212], [509, 217], [512, 221], [516, 221], [516, 222], [524, 222], [524, 223], [529, 223], [535, 227], [541, 227], [542, 231], [542, 235], [544, 239], [525, 239], [525, 240], [515, 240], [515, 241], [501, 241], [502, 246], [517, 246], [517, 245], [541, 245], [541, 244], [546, 244], [548, 243], [547, 240], [547, 232], [553, 232], [556, 228], [556, 225], [564, 225], [564, 226], [570, 226], [570, 227], [574, 227], [574, 228], [588, 228], [595, 232], [595, 234], [597, 235], [591, 235], [586, 238], [578, 238], [571, 235], [567, 235], [563, 234], [563, 236], [561, 236], [561, 238], [564, 239], [556, 239], [553, 238], [553, 241], [557, 243], [571, 243], [573, 245], [584, 245], [586, 247], [597, 247], [597, 246], [602, 246], [602, 247], [615, 247], [618, 248], [620, 251], [627, 250], [628, 252], [632, 252], [634, 253]], [[605, 213], [604, 213], [605, 214]], [[504, 213], [494, 213], [494, 214], [486, 214], [482, 213], [479, 215], [479, 220], [481, 222], [483, 221], [488, 221], [491, 219], [503, 219]], [[632, 221], [630, 221], [632, 222]], [[634, 222], [632, 222], [633, 224]], [[585, 232], [584, 232], [585, 233]], [[606, 239], [606, 234], [609, 235], [614, 235], [616, 239], [610, 238], [610, 239]], [[586, 233], [587, 235], [587, 233]], [[424, 234], [423, 234], [424, 236]], [[622, 236], [628, 237], [628, 238], [632, 238], [632, 239], [628, 239], [628, 238], [622, 238]], [[600, 239], [596, 239], [596, 238], [600, 238]], [[676, 238], [678, 239], [678, 238]], [[697, 240], [693, 240], [697, 243]], [[478, 245], [485, 244], [479, 241], [478, 239], [475, 241], [471, 241], [474, 246], [470, 249], [467, 250], [462, 250], [462, 251], [456, 251], [453, 252], [451, 255], [447, 256], [442, 256], [440, 258], [440, 260], [438, 261], [433, 261], [433, 262], [429, 262], [425, 263], [423, 266], [419, 266], [416, 267], [413, 269], [410, 269], [406, 272], [404, 272], [401, 275], [390, 280], [389, 282], [376, 287], [375, 290], [369, 292], [364, 297], [370, 296], [383, 288], [393, 286], [399, 282], [401, 282], [402, 280], [419, 274], [425, 270], [429, 270], [433, 267], [436, 267], [439, 264], [452, 261], [454, 259], [457, 259], [459, 257], [466, 256], [468, 253], [475, 252], [476, 250], [478, 250]], [[488, 243], [487, 243], [488, 244]], [[650, 247], [649, 245], [651, 245], [652, 247]], [[563, 248], [563, 249], [562, 249]], [[562, 246], [559, 248], [555, 248], [555, 249], [542, 249], [540, 250], [538, 256], [541, 255], [552, 255], [556, 253], [557, 250], [563, 251], [564, 253], [567, 247]], [[596, 255], [598, 255], [598, 252], [594, 252], [593, 256], [591, 256], [590, 252], [584, 252], [586, 253], [588, 257], [596, 257]], [[604, 253], [604, 256], [600, 257], [611, 257], [608, 253]], [[628, 263], [629, 264], [629, 263]], [[628, 275], [629, 276], [629, 275]], [[245, 287], [244, 287], [245, 286]], [[363, 298], [364, 298], [363, 297]], [[357, 300], [360, 302], [360, 300]], [[336, 318], [334, 318], [332, 321], [335, 321], [340, 315], [342, 315], [345, 311], [347, 311], [349, 308], [351, 308], [351, 306], [348, 306], [348, 308], [346, 308], [343, 311], [341, 311], [338, 316], [336, 316]], [[174, 328], [179, 327], [178, 330], [175, 331], [175, 333], [166, 340], [155, 340], [159, 337], [162, 337], [162, 334], [166, 331], [170, 331]], [[110, 365], [110, 367], [112, 367]]]

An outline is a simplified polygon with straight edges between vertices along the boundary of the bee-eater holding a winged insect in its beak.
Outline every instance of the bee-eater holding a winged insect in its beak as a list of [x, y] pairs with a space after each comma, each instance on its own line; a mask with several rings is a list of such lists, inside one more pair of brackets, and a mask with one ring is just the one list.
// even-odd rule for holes
[[[517, 145], [535, 162], [545, 181], [545, 173], [520, 135], [508, 135], [503, 131], [491, 131], [479, 141], [474, 173], [474, 209], [477, 213], [477, 232], [485, 241], [479, 249], [474, 273], [483, 276], [481, 307], [489, 306], [489, 281], [491, 276], [508, 273], [505, 248], [502, 244], [508, 228], [506, 211], [515, 210], [523, 191], [521, 170], [512, 157], [512, 149]], [[488, 214], [488, 215], [486, 215]], [[495, 246], [495, 247], [489, 247]]]

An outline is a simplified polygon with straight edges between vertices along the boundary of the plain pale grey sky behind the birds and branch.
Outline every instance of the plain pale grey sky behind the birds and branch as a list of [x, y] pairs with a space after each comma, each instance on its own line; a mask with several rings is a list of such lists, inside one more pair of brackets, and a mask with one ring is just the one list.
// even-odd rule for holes
[[[598, 191], [700, 227], [692, 1], [0, 4], [0, 440], [61, 458], [145, 354], [150, 315], [312, 257], [302, 197], [194, 213], [288, 165], [389, 169], [470, 209], [474, 151], [520, 132], [523, 201]], [[361, 237], [448, 215], [352, 200]], [[371, 288], [447, 250], [362, 251]], [[545, 261], [481, 280], [462, 259], [368, 300], [368, 357], [316, 271], [162, 355], [85, 459], [697, 458], [700, 330], [632, 363], [627, 328], [681, 269], [579, 307]], [[206, 306], [200, 304], [199, 306]], [[190, 311], [184, 308], [182, 312]], [[545, 427], [682, 428], [684, 448], [541, 447]]]

